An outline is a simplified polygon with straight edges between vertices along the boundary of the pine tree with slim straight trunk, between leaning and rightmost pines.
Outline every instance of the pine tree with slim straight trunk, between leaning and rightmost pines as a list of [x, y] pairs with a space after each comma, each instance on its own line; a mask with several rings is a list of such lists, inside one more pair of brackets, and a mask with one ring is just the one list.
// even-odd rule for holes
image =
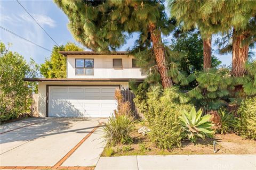
[[203, 39], [203, 67], [204, 70], [210, 69], [212, 66], [212, 38], [217, 24], [214, 19], [207, 18], [202, 13], [204, 1], [169, 1], [171, 16], [177, 20], [177, 24], [181, 25], [184, 31], [198, 28]]

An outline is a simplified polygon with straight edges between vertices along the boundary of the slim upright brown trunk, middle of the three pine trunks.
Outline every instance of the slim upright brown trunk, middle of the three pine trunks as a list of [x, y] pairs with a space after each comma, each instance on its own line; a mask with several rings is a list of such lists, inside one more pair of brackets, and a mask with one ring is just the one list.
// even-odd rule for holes
[[204, 70], [212, 67], [212, 37], [203, 40], [204, 45]]

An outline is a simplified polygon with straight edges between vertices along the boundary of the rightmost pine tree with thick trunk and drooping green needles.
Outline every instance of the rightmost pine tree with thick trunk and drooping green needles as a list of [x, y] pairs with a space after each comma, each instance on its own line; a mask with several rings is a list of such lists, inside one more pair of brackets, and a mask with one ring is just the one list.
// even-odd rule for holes
[[204, 1], [201, 11], [221, 25], [217, 29], [226, 40], [221, 44], [222, 52], [232, 52], [231, 74], [242, 77], [246, 73], [249, 46], [255, 43], [255, 1]]

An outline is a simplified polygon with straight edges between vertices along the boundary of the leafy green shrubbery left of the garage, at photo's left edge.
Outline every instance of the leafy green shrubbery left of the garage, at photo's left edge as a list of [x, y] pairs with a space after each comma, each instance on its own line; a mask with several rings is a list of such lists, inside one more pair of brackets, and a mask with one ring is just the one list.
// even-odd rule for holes
[[32, 60], [26, 63], [21, 55], [6, 49], [0, 42], [0, 121], [30, 114], [31, 94], [35, 83], [23, 78], [35, 78], [38, 66]]

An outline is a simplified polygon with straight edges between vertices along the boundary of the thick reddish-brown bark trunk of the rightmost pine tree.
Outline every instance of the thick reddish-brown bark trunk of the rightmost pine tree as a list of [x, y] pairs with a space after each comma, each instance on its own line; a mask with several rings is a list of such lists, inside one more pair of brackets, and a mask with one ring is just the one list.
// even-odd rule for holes
[[232, 47], [232, 70], [231, 74], [235, 77], [241, 77], [245, 74], [245, 63], [248, 60], [249, 45], [242, 46], [242, 41], [246, 35], [236, 35], [235, 29], [233, 30], [233, 47]]

